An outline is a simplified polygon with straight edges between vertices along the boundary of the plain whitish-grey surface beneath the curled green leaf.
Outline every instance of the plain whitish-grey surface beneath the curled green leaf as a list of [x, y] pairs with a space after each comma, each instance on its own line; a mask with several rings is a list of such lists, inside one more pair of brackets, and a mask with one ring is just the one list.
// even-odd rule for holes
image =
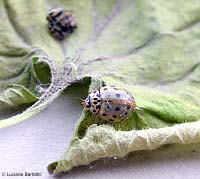
[[[87, 88], [63, 92], [42, 113], [18, 125], [0, 130], [1, 172], [42, 172], [40, 177], [54, 178], [46, 167], [59, 159], [69, 145], [74, 125], [81, 113], [76, 97]], [[80, 95], [81, 94], [81, 95]], [[89, 166], [77, 167], [55, 178], [200, 178], [200, 144], [168, 145], [154, 151], [139, 151], [122, 159], [101, 159]]]

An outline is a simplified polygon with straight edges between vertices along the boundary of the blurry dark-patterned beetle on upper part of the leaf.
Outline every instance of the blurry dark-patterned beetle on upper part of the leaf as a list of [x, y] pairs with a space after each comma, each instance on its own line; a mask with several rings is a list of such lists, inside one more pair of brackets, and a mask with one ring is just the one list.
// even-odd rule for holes
[[75, 17], [61, 7], [51, 9], [47, 15], [47, 21], [49, 31], [58, 39], [63, 39], [77, 27]]

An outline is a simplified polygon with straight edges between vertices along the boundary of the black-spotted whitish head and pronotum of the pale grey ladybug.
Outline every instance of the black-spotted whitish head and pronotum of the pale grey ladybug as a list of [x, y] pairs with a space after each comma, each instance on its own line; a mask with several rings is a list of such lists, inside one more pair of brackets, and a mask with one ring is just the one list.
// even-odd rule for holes
[[98, 114], [101, 107], [100, 92], [98, 90], [95, 90], [92, 93], [90, 93], [82, 102], [82, 105], [92, 114]]

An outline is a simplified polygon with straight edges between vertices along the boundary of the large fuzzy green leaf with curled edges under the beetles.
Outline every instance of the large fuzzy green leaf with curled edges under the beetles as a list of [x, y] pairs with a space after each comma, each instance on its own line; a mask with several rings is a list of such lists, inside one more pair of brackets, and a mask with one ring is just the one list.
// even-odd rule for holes
[[[46, 14], [55, 6], [78, 21], [62, 41], [47, 28]], [[2, 99], [8, 107], [37, 102], [0, 127], [35, 115], [66, 87], [89, 79], [89, 91], [102, 85], [128, 90], [141, 110], [120, 123], [83, 110], [68, 151], [49, 165], [50, 173], [166, 143], [198, 142], [192, 129], [200, 119], [199, 11], [199, 0], [1, 1]]]

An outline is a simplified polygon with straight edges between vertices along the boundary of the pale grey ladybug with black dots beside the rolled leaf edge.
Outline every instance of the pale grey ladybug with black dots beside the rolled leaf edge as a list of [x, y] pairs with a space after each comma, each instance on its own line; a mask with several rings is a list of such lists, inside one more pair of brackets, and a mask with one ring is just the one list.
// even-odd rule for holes
[[99, 115], [105, 121], [121, 122], [131, 117], [136, 110], [133, 96], [114, 86], [104, 86], [91, 92], [82, 105], [92, 115]]

